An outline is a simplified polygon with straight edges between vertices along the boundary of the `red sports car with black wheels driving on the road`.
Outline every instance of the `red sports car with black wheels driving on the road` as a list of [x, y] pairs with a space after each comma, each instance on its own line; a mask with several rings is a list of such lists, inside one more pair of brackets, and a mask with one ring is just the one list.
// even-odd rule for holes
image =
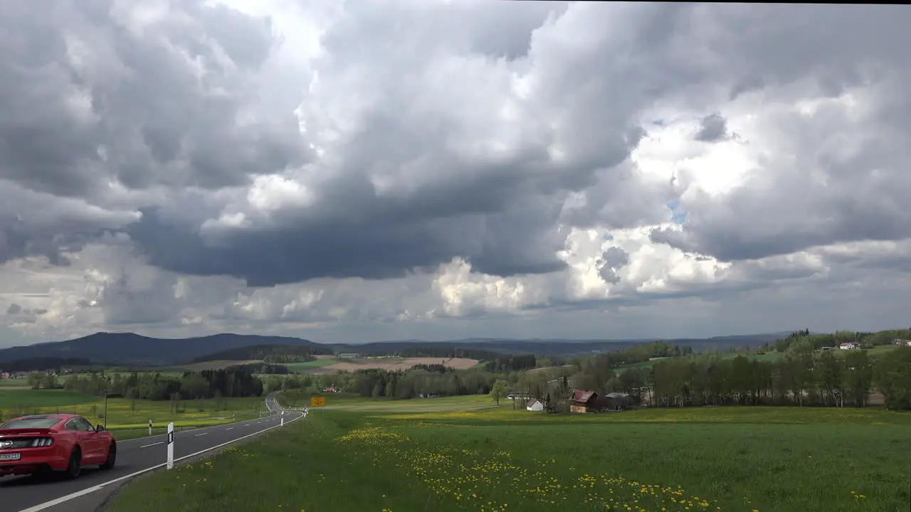
[[83, 466], [114, 467], [117, 442], [104, 427], [79, 415], [30, 415], [0, 424], [0, 476], [63, 473]]

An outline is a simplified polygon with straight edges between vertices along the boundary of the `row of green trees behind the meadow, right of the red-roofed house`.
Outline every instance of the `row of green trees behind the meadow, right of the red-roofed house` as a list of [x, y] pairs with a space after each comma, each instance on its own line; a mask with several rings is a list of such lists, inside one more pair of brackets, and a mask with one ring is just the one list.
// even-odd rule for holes
[[911, 409], [911, 347], [896, 347], [878, 360], [865, 350], [792, 351], [762, 360], [739, 354], [669, 358], [650, 368], [615, 370], [596, 358], [576, 375], [577, 387], [599, 394], [628, 393], [659, 407], [691, 405], [853, 406]]

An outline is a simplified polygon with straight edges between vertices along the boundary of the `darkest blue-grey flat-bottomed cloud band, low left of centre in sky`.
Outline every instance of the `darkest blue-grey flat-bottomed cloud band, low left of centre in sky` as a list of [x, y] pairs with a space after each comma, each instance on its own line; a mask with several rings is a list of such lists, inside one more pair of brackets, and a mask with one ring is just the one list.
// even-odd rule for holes
[[249, 286], [272, 286], [319, 277], [402, 277], [454, 256], [465, 257], [477, 271], [497, 275], [558, 270], [563, 262], [548, 254], [561, 249], [563, 239], [556, 230], [540, 230], [553, 225], [541, 215], [554, 213], [339, 218], [228, 232], [207, 244], [193, 226], [164, 221], [158, 211], [148, 210], [128, 233], [161, 268], [230, 275], [245, 279]]

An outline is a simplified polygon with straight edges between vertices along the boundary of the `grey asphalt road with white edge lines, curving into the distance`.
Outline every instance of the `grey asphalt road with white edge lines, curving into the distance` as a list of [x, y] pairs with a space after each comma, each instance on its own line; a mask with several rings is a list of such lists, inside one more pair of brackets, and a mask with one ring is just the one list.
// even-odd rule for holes
[[[174, 433], [174, 460], [197, 455], [220, 445], [238, 441], [278, 426], [281, 406], [274, 394], [266, 396], [266, 407], [272, 413], [231, 424], [210, 426]], [[287, 411], [285, 423], [299, 419], [303, 413]], [[76, 512], [94, 510], [111, 492], [129, 477], [141, 474], [168, 461], [167, 435], [151, 435], [118, 441], [117, 465], [109, 471], [97, 467], [83, 469], [76, 480], [45, 481], [34, 476], [5, 476], [0, 478], [0, 510], [2, 512]], [[76, 495], [76, 496], [74, 496]], [[91, 503], [93, 506], [89, 506]]]

